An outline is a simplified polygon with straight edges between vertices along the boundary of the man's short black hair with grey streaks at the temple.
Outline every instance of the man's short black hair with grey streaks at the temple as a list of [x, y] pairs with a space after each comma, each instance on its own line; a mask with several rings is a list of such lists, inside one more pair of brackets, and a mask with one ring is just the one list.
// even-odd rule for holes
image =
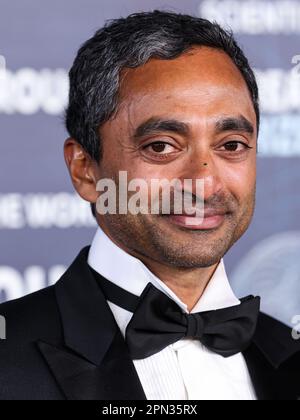
[[110, 20], [81, 46], [69, 72], [69, 135], [99, 162], [99, 127], [117, 110], [121, 70], [151, 58], [174, 59], [194, 46], [222, 50], [231, 57], [248, 86], [259, 127], [257, 82], [232, 31], [206, 19], [154, 10]]

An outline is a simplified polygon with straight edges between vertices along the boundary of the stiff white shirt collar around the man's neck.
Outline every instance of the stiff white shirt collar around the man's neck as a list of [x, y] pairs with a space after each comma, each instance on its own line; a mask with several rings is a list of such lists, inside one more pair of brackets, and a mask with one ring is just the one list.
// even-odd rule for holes
[[[165, 293], [188, 313], [185, 305], [175, 293], [156, 277], [138, 258], [118, 247], [99, 227], [88, 255], [88, 264], [103, 277], [117, 286], [140, 296], [149, 282]], [[222, 309], [239, 305], [224, 267], [223, 259], [218, 264], [204, 294], [192, 313]]]

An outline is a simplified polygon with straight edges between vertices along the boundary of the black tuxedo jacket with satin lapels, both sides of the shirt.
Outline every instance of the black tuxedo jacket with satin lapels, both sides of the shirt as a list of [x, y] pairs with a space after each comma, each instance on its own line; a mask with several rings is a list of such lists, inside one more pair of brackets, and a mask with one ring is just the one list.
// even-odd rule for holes
[[[52, 287], [0, 305], [1, 400], [145, 400], [126, 343], [81, 251]], [[261, 314], [244, 353], [259, 400], [300, 399], [300, 342]]]

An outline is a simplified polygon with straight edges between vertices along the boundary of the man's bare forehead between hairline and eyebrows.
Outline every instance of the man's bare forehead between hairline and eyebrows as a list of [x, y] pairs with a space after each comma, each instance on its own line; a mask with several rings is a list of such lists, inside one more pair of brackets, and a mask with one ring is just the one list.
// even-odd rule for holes
[[[223, 51], [195, 47], [176, 59], [151, 59], [121, 74], [119, 113], [140, 120], [152, 114], [216, 119], [244, 114], [255, 120], [246, 82]], [[179, 115], [181, 114], [181, 115]]]

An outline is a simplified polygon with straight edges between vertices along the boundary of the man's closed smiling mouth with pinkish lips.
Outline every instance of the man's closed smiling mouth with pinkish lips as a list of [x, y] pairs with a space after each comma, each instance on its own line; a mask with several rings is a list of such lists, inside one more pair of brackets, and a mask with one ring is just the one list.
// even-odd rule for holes
[[190, 230], [215, 230], [218, 229], [225, 221], [228, 212], [207, 209], [204, 211], [203, 217], [197, 215], [168, 214], [164, 215], [168, 221], [174, 225], [190, 229]]

